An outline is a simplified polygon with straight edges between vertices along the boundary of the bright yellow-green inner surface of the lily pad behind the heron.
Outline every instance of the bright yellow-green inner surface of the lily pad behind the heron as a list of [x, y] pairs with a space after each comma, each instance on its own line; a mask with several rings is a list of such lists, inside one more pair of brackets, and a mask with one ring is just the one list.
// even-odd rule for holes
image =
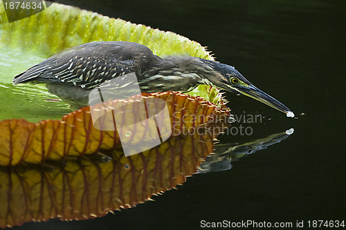
[[[134, 41], [148, 46], [161, 57], [181, 54], [212, 59], [199, 43], [174, 32], [58, 3], [36, 15], [9, 23], [0, 4], [0, 120], [24, 118], [39, 122], [60, 119], [71, 112], [67, 104], [56, 102], [57, 97], [47, 93], [43, 85], [12, 86], [12, 78], [57, 52], [91, 41]], [[189, 94], [223, 104], [219, 91], [210, 86], [199, 86]]]

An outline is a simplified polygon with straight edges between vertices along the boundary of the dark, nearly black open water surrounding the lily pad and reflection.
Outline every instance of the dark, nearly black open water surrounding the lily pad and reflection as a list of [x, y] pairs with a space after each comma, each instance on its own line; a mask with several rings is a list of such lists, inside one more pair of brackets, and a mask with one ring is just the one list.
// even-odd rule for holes
[[345, 1], [59, 2], [198, 41], [298, 119], [227, 94], [235, 114], [263, 119], [244, 124], [252, 135], [223, 135], [221, 143], [242, 144], [289, 128], [293, 135], [228, 171], [194, 175], [155, 202], [95, 220], [13, 229], [199, 229], [201, 220], [304, 220], [307, 229], [308, 220], [346, 221]]

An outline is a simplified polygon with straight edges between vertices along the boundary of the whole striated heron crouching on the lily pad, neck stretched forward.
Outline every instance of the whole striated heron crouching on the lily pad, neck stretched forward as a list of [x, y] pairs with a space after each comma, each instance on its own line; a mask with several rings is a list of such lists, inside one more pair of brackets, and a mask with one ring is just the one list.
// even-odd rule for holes
[[127, 41], [99, 41], [69, 48], [17, 75], [13, 84], [46, 83], [50, 93], [72, 106], [82, 107], [88, 105], [93, 88], [128, 73], [136, 73], [142, 92], [185, 93], [205, 84], [242, 93], [288, 117], [294, 116], [289, 108], [253, 86], [232, 66], [199, 57], [161, 58], [146, 46]]

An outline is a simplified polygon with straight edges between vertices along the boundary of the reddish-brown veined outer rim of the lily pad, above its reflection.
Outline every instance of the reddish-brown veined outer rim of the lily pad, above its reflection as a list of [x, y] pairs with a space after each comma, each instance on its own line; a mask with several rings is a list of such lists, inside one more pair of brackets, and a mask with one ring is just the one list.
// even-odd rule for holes
[[[172, 92], [143, 94], [144, 99], [152, 97], [167, 102], [173, 133], [208, 124], [211, 120], [226, 119], [229, 115], [228, 111], [198, 97]], [[116, 108], [117, 103], [106, 104]], [[47, 160], [62, 161], [66, 157], [81, 157], [120, 147], [116, 131], [94, 128], [90, 111], [98, 109], [100, 104], [73, 111], [60, 121], [44, 120], [36, 124], [24, 119], [1, 121], [0, 165], [42, 164]], [[140, 131], [138, 127], [136, 132]]]

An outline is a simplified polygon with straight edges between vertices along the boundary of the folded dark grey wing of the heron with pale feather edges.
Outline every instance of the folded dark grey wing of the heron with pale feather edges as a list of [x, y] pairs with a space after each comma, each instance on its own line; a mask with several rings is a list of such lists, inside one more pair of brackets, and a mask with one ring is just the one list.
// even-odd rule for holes
[[126, 48], [114, 44], [102, 47], [98, 47], [98, 43], [83, 44], [29, 68], [17, 75], [13, 83], [64, 82], [94, 88], [120, 75], [136, 72], [135, 61], [127, 59], [124, 51]]

